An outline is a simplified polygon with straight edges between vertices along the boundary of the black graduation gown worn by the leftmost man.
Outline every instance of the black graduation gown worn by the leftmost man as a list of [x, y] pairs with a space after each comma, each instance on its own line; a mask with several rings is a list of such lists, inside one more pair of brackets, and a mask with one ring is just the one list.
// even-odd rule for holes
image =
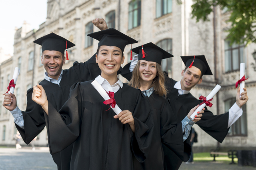
[[[101, 73], [98, 64], [95, 61], [95, 55], [84, 63], [74, 62], [73, 66], [68, 70], [63, 70], [60, 85], [54, 84], [47, 80], [42, 80], [39, 84], [46, 91], [48, 101], [52, 103], [53, 108], [60, 110], [63, 104], [68, 100], [70, 87], [76, 82], [84, 82], [96, 78]], [[27, 91], [27, 107], [26, 111], [22, 111], [24, 119], [24, 129], [16, 125], [24, 142], [29, 144], [46, 125], [43, 109], [40, 105], [32, 101], [33, 88]], [[49, 131], [48, 132], [48, 140]], [[50, 142], [49, 147], [50, 146]], [[58, 166], [58, 170], [69, 170], [70, 159], [72, 153], [72, 145], [59, 153], [52, 154], [54, 162]]]

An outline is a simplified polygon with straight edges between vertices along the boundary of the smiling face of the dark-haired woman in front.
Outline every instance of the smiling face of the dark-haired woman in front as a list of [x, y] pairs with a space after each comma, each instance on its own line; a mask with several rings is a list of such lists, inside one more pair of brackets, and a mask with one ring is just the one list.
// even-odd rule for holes
[[124, 63], [124, 56], [121, 49], [116, 46], [100, 46], [96, 63], [99, 64], [102, 76], [112, 76], [117, 74]]

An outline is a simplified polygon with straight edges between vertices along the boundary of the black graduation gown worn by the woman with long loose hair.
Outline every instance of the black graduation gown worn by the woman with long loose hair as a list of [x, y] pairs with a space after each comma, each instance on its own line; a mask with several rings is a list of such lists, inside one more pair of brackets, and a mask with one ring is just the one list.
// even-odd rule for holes
[[140, 163], [134, 159], [134, 170], [164, 170], [162, 144], [176, 153], [180, 159], [188, 160], [191, 149], [184, 152], [182, 124], [177, 124], [176, 116], [172, 112], [173, 104], [155, 91], [148, 100], [154, 114], [154, 136], [145, 162]]

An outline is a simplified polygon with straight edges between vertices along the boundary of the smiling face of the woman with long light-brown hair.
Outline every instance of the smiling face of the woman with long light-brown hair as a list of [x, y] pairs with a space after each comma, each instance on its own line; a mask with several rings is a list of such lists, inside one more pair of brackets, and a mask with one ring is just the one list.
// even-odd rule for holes
[[156, 70], [156, 62], [146, 61], [146, 60], [140, 60], [140, 78], [143, 81], [153, 81], [153, 79], [156, 77], [157, 70]]

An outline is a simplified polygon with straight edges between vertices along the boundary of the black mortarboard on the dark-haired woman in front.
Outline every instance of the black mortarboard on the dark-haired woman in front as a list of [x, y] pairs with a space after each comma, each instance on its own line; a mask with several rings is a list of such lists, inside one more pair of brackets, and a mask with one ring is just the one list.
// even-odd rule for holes
[[124, 48], [127, 44], [133, 44], [138, 42], [114, 28], [108, 28], [106, 30], [94, 32], [94, 33], [88, 34], [87, 36], [90, 36], [100, 41], [98, 43], [98, 47], [99, 46], [116, 46], [120, 48], [122, 52], [124, 52]]

